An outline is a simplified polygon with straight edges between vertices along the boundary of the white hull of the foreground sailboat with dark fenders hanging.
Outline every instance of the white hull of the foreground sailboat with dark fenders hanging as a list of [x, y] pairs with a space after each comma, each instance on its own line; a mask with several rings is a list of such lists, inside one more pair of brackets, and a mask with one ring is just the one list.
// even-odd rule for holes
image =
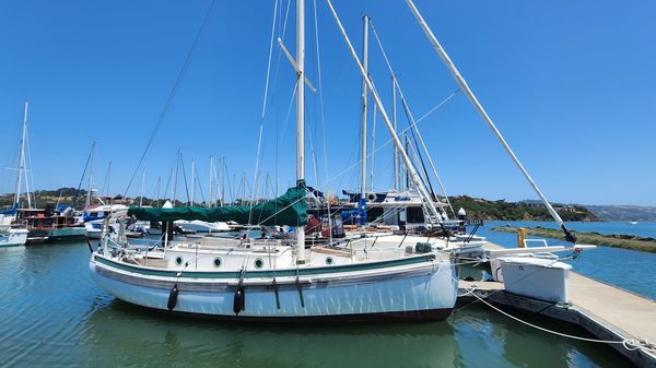
[[[134, 305], [168, 309], [175, 276], [131, 272], [147, 269], [128, 264], [116, 268], [112, 263], [99, 263], [94, 258], [90, 262], [92, 277], [101, 287]], [[284, 270], [280, 270], [280, 308], [271, 277], [246, 278], [245, 308], [238, 314], [233, 311], [238, 280], [197, 278], [194, 272], [185, 272], [187, 276], [177, 280], [179, 294], [174, 311], [258, 321], [443, 320], [456, 302], [455, 268], [448, 260], [424, 259], [414, 264], [350, 272], [325, 269], [325, 273], [298, 278], [284, 276]]]

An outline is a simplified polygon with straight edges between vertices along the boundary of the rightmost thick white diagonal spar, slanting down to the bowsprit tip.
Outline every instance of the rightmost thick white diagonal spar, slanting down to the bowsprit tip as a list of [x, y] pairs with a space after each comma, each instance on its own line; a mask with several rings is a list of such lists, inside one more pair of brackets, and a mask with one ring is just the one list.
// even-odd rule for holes
[[530, 177], [530, 175], [528, 175], [528, 171], [524, 168], [524, 166], [522, 165], [522, 163], [519, 162], [519, 159], [517, 158], [517, 156], [515, 155], [515, 153], [513, 152], [513, 150], [511, 149], [508, 143], [505, 141], [503, 135], [501, 135], [501, 132], [499, 131], [499, 129], [496, 129], [496, 126], [492, 121], [492, 118], [490, 118], [490, 116], [488, 115], [488, 111], [485, 111], [483, 106], [479, 103], [478, 98], [476, 98], [473, 92], [471, 91], [471, 88], [469, 88], [469, 85], [467, 85], [465, 78], [462, 78], [462, 75], [460, 74], [460, 72], [458, 71], [458, 69], [456, 68], [456, 66], [454, 64], [452, 59], [448, 57], [448, 55], [446, 54], [446, 51], [444, 50], [442, 45], [440, 45], [437, 37], [435, 37], [435, 35], [433, 34], [433, 32], [431, 31], [431, 28], [429, 27], [426, 22], [423, 20], [423, 17], [419, 13], [419, 10], [417, 10], [417, 7], [414, 7], [414, 3], [412, 2], [412, 0], [406, 0], [406, 3], [408, 4], [408, 8], [410, 8], [410, 11], [414, 15], [414, 17], [417, 19], [417, 22], [421, 26], [422, 31], [424, 32], [424, 34], [431, 41], [433, 49], [435, 49], [437, 55], [440, 55], [440, 58], [442, 58], [442, 61], [444, 61], [444, 63], [450, 71], [452, 75], [454, 76], [454, 79], [456, 80], [456, 82], [458, 83], [458, 85], [460, 86], [462, 92], [467, 95], [467, 98], [469, 98], [469, 100], [471, 102], [473, 107], [478, 110], [481, 118], [483, 118], [483, 120], [488, 123], [490, 129], [492, 129], [492, 132], [494, 133], [494, 135], [496, 135], [496, 139], [499, 140], [501, 145], [504, 147], [504, 150], [506, 151], [508, 156], [511, 156], [511, 158], [513, 159], [515, 165], [517, 165], [517, 168], [519, 168], [519, 171], [522, 171], [522, 174], [524, 174], [524, 177], [526, 178], [528, 183], [532, 187], [535, 192], [542, 200], [542, 202], [547, 206], [547, 210], [551, 214], [551, 217], [553, 217], [553, 219], [561, 226], [563, 233], [565, 234], [565, 239], [567, 241], [575, 242], [576, 237], [572, 233], [570, 233], [570, 230], [567, 230], [567, 228], [565, 227], [565, 223], [562, 221], [562, 218], [558, 214], [558, 212], [555, 212], [553, 206], [551, 206], [551, 204], [549, 203], [549, 201], [547, 200], [544, 194], [542, 194], [542, 191], [540, 191], [540, 189], [538, 188], [538, 185], [534, 181], [534, 179]]

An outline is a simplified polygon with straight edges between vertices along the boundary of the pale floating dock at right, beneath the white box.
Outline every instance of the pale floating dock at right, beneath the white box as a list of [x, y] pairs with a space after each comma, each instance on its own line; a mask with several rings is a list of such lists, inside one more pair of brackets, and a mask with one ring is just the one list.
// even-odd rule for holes
[[[503, 249], [488, 242], [487, 249]], [[656, 301], [570, 272], [569, 304], [554, 304], [506, 293], [501, 282], [460, 281], [460, 302], [513, 307], [583, 327], [597, 340], [613, 343], [636, 366], [656, 368]], [[635, 345], [634, 345], [635, 344]]]

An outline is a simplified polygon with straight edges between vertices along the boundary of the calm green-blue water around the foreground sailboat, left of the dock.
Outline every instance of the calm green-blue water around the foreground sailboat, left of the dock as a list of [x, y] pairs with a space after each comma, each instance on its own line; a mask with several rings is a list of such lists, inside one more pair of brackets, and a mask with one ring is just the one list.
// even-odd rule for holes
[[[629, 365], [609, 347], [548, 335], [485, 307], [468, 306], [436, 323], [222, 324], [114, 299], [90, 280], [85, 244], [0, 249], [0, 367]], [[585, 335], [569, 324], [522, 317]]]

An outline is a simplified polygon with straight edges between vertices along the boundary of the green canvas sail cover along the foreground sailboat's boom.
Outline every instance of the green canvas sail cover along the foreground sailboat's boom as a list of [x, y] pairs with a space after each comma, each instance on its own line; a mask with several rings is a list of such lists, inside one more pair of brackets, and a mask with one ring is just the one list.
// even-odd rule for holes
[[288, 225], [300, 226], [307, 224], [307, 205], [305, 203], [305, 182], [300, 181], [296, 188], [273, 200], [249, 205], [226, 207], [176, 207], [176, 209], [144, 209], [130, 207], [128, 215], [145, 221], [201, 219], [209, 223], [234, 221], [238, 224]]

